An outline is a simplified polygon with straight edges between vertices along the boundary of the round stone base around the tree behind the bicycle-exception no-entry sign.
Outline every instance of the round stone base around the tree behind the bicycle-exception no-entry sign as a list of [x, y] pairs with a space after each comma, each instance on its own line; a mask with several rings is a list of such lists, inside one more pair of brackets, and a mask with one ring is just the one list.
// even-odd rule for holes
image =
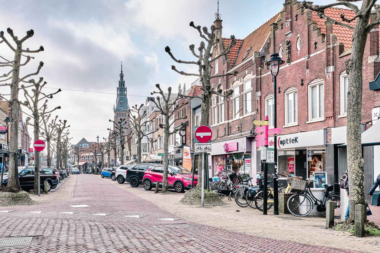
[[[190, 190], [184, 194], [184, 196], [178, 203], [191, 206], [201, 206], [201, 198], [202, 193], [200, 190]], [[204, 206], [223, 206], [227, 203], [221, 201], [217, 193], [205, 192], [203, 204]]]

